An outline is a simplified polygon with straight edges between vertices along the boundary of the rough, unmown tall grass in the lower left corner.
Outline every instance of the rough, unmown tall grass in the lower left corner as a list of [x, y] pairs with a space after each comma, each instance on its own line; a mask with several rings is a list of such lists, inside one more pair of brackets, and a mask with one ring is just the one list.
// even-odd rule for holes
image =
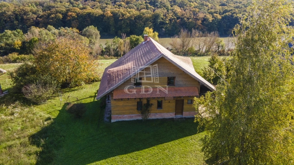
[[42, 148], [30, 135], [52, 123], [50, 115], [19, 102], [0, 107], [0, 164], [35, 164]]

